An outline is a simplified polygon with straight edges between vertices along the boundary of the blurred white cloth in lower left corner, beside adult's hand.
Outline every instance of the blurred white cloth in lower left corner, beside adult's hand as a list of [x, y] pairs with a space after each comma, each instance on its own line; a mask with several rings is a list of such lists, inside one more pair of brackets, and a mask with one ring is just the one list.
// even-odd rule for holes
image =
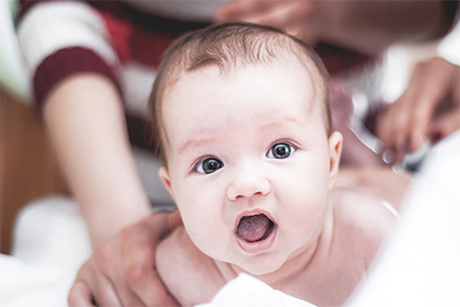
[[74, 201], [53, 196], [26, 206], [14, 231], [12, 255], [0, 254], [0, 306], [64, 307], [91, 253]]

